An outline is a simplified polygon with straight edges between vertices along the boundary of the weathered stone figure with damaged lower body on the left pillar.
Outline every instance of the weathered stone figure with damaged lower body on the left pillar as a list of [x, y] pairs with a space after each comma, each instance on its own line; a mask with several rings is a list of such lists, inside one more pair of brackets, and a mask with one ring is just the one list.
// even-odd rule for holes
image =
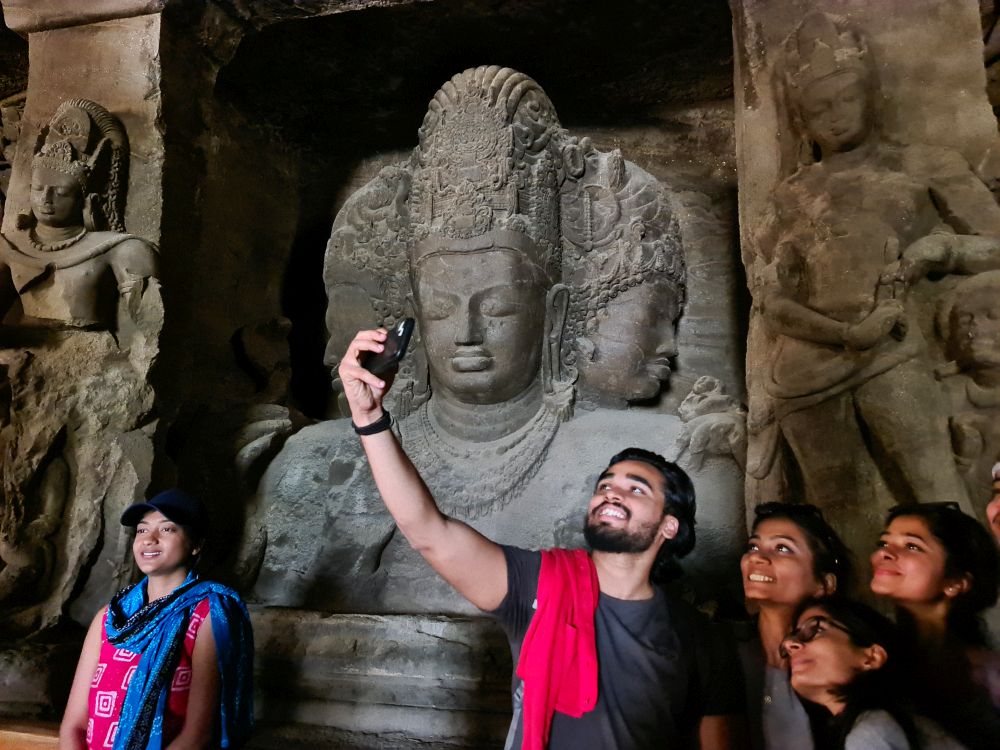
[[[38, 134], [30, 211], [0, 236], [0, 634], [51, 625], [86, 597], [105, 500], [148, 471], [163, 312], [155, 249], [124, 232], [127, 166], [104, 107], [62, 103]], [[117, 565], [118, 552], [101, 554]]]

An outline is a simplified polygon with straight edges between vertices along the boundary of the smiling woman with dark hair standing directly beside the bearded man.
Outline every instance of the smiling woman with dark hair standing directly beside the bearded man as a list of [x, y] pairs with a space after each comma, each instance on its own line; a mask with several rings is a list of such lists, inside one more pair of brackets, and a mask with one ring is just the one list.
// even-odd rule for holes
[[763, 503], [755, 512], [740, 560], [743, 593], [756, 614], [739, 644], [751, 743], [758, 750], [807, 750], [809, 718], [788, 683], [781, 642], [803, 601], [850, 587], [850, 556], [814, 505]]

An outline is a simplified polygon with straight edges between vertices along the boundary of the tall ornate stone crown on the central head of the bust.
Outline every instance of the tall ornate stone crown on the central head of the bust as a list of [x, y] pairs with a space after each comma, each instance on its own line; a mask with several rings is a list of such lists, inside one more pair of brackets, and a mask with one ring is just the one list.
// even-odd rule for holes
[[414, 153], [411, 264], [445, 246], [503, 246], [558, 279], [560, 132], [552, 102], [523, 73], [483, 66], [442, 86]]

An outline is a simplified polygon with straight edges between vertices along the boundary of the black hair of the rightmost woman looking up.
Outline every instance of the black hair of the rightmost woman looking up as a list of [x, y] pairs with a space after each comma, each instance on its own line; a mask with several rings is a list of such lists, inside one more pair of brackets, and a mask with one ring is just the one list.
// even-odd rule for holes
[[897, 505], [886, 516], [888, 526], [903, 516], [920, 518], [945, 551], [945, 575], [968, 578], [969, 589], [952, 599], [948, 635], [967, 646], [986, 646], [980, 613], [997, 603], [1000, 553], [989, 532], [955, 503]]

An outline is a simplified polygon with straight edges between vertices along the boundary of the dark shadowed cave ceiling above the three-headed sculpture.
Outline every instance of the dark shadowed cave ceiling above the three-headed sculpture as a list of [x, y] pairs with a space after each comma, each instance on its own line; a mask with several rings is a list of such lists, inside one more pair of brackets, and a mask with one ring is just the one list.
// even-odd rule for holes
[[300, 147], [392, 150], [414, 145], [442, 83], [484, 64], [534, 77], [569, 127], [654, 124], [732, 97], [731, 16], [725, 0], [371, 7], [248, 34], [217, 95]]

